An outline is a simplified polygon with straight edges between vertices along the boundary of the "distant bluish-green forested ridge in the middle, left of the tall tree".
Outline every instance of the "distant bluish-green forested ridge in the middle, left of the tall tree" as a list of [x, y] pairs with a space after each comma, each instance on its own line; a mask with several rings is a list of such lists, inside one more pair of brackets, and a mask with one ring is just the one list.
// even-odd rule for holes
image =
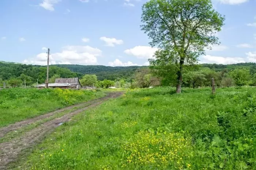
[[131, 79], [135, 70], [145, 66], [110, 67], [101, 65], [55, 65], [82, 74], [96, 74], [98, 80], [116, 80], [116, 78]]

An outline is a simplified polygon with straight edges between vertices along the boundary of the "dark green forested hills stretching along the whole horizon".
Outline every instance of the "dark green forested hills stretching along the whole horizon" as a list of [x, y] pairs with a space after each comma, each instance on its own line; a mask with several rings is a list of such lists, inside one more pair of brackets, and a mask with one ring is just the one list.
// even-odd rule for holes
[[[250, 69], [251, 73], [256, 73], [256, 63], [237, 63], [230, 65], [222, 64], [201, 64], [202, 67], [208, 67], [217, 72], [227, 69], [228, 71], [238, 67]], [[51, 65], [50, 77], [53, 74], [59, 74], [61, 77], [82, 77], [84, 74], [96, 74], [98, 80], [116, 80], [123, 78], [127, 81], [133, 79], [135, 71], [139, 68], [147, 66], [126, 66], [126, 67], [110, 67], [102, 65]], [[45, 80], [46, 66], [26, 65], [15, 62], [0, 61], [0, 80], [8, 80], [10, 78], [19, 77], [20, 74], [25, 74], [34, 78], [39, 78], [40, 82]]]

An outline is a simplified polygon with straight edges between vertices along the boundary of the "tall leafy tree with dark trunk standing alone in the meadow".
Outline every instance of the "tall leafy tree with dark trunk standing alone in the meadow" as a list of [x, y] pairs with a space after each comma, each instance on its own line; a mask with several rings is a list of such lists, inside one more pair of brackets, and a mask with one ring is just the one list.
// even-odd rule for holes
[[176, 93], [181, 93], [184, 64], [195, 63], [205, 47], [219, 43], [215, 33], [224, 20], [211, 0], [150, 0], [143, 5], [142, 30], [151, 46], [165, 51], [156, 60], [176, 65]]

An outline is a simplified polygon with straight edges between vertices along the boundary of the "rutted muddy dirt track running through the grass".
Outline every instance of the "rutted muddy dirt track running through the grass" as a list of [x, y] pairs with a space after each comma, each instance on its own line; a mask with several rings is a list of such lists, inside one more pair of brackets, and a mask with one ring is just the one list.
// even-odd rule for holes
[[45, 123], [39, 125], [38, 127], [26, 132], [21, 137], [14, 138], [8, 142], [0, 143], [0, 169], [7, 169], [8, 163], [15, 161], [15, 159], [18, 158], [18, 156], [20, 154], [22, 154], [23, 150], [25, 150], [27, 148], [31, 148], [31, 147], [33, 147], [34, 144], [39, 143], [46, 134], [49, 134], [50, 132], [52, 132], [54, 130], [54, 128], [59, 126], [60, 123], [67, 122], [67, 121], [71, 120], [72, 116], [74, 116], [80, 112], [83, 112], [86, 109], [93, 108], [93, 107], [103, 103], [104, 101], [108, 100], [109, 98], [118, 97], [121, 94], [123, 94], [123, 93], [122, 92], [109, 93], [108, 96], [106, 96], [106, 97], [92, 100], [87, 103], [70, 106], [70, 107], [67, 107], [64, 109], [60, 109], [58, 111], [54, 111], [54, 112], [50, 112], [50, 113], [47, 113], [44, 115], [34, 117], [33, 119], [23, 120], [23, 121], [15, 123], [15, 124], [11, 124], [7, 127], [0, 128], [0, 138], [1, 138], [1, 137], [4, 137], [5, 134], [7, 134], [11, 131], [18, 130], [22, 127], [25, 127], [26, 125], [36, 123], [37, 121], [51, 117], [56, 113], [66, 111], [66, 110], [72, 109], [74, 107], [86, 105], [82, 109], [78, 109], [74, 112], [67, 113], [64, 116], [55, 118], [53, 120], [46, 121]]

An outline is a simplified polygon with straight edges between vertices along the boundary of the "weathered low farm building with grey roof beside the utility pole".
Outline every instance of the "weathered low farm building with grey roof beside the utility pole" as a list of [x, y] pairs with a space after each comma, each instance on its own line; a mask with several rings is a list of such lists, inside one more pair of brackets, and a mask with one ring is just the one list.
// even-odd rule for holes
[[[62, 89], [79, 89], [80, 82], [78, 78], [56, 78], [55, 83], [49, 83], [48, 87], [62, 88]], [[37, 88], [44, 88], [45, 84], [35, 86]]]

